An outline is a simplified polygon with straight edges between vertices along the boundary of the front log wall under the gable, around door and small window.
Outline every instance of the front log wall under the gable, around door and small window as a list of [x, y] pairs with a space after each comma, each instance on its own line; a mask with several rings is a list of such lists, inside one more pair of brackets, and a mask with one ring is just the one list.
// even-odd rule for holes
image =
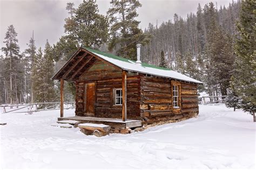
[[[84, 112], [84, 87], [86, 83], [96, 83], [95, 117], [122, 118], [122, 105], [114, 105], [114, 89], [122, 88], [122, 70], [106, 65], [102, 61], [87, 70], [76, 83], [76, 115]], [[139, 76], [127, 73], [127, 118], [140, 119]]]

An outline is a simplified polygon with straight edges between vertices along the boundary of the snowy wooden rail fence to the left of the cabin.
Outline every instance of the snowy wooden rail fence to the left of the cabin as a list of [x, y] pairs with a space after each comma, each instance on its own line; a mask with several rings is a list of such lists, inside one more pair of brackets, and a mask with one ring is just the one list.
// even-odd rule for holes
[[[75, 102], [64, 102], [66, 105], [66, 108], [64, 109], [71, 109], [75, 108]], [[13, 109], [16, 107], [16, 109]], [[21, 108], [20, 108], [21, 107]], [[30, 107], [30, 108], [29, 108]], [[32, 108], [34, 108], [32, 110]], [[16, 104], [16, 105], [0, 105], [0, 108], [3, 108], [3, 114], [8, 113], [8, 112], [13, 112], [16, 110], [21, 110], [24, 108], [28, 108], [28, 111], [42, 111], [42, 110], [57, 110], [60, 108], [60, 102], [45, 102], [45, 103], [28, 103], [28, 104]], [[6, 108], [10, 108], [13, 110], [6, 111]], [[20, 112], [28, 112], [28, 111], [20, 111]]]

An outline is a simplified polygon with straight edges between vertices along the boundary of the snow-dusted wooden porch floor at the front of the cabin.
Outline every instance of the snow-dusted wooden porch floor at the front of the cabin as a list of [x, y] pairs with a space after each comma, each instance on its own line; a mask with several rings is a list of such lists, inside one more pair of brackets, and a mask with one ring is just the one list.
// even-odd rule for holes
[[58, 121], [72, 120], [82, 123], [95, 123], [95, 124], [106, 124], [111, 128], [125, 129], [125, 128], [136, 128], [142, 126], [142, 121], [127, 119], [123, 122], [122, 119], [115, 118], [101, 118], [101, 117], [85, 117], [85, 116], [70, 116], [70, 117], [58, 117]]

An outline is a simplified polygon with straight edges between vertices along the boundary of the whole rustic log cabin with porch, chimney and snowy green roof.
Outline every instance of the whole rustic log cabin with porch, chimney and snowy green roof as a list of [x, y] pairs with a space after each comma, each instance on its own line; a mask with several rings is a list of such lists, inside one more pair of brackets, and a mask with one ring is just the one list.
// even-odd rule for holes
[[[58, 121], [103, 123], [118, 133], [197, 116], [202, 82], [141, 62], [140, 46], [137, 61], [79, 47], [52, 77], [60, 81]], [[63, 116], [64, 81], [75, 83], [76, 116]]]

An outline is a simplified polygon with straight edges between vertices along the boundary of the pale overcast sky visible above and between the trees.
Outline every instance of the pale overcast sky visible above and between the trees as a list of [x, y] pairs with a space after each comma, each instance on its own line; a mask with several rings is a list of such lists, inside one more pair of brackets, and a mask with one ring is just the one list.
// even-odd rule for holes
[[[5, 32], [9, 25], [14, 25], [18, 33], [21, 51], [34, 31], [36, 46], [44, 47], [46, 39], [55, 44], [64, 34], [64, 19], [68, 17], [66, 3], [73, 2], [77, 7], [83, 0], [0, 0], [1, 34], [0, 47], [3, 44]], [[97, 0], [99, 12], [104, 14], [109, 9], [110, 0]], [[173, 19], [174, 13], [186, 17], [187, 13], [196, 12], [198, 3], [204, 6], [211, 0], [140, 0], [142, 8], [138, 9], [140, 27], [144, 30], [149, 23], [156, 25]], [[232, 0], [213, 0], [227, 6]], [[2, 54], [2, 52], [0, 52]]]

